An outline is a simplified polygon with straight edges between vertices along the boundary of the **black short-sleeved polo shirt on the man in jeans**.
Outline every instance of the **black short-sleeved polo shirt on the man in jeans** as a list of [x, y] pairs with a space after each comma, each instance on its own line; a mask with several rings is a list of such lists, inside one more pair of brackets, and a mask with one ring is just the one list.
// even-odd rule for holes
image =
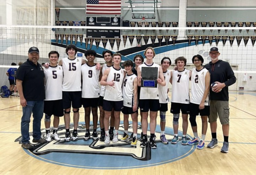
[[45, 99], [44, 71], [41, 64], [27, 61], [17, 69], [17, 79], [22, 80], [23, 94], [27, 101]]

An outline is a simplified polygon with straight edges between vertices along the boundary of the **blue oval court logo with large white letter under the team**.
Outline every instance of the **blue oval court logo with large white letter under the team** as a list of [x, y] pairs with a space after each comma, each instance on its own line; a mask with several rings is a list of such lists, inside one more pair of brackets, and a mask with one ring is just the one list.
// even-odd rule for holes
[[[71, 126], [70, 128], [70, 132], [72, 133], [73, 127]], [[98, 126], [97, 131], [100, 136], [99, 130], [100, 127]], [[132, 132], [132, 124], [129, 124], [128, 131], [130, 135]], [[117, 143], [111, 142], [110, 144], [105, 144], [99, 140], [93, 140], [92, 138], [85, 141], [83, 137], [86, 129], [82, 123], [79, 123], [79, 127], [77, 128], [79, 134], [78, 140], [65, 142], [65, 125], [61, 125], [58, 128], [60, 141], [52, 140], [45, 144], [31, 142], [31, 144], [34, 144], [34, 148], [24, 150], [29, 155], [46, 162], [85, 169], [143, 168], [173, 162], [194, 152], [196, 146], [182, 145], [180, 142], [177, 144], [170, 143], [173, 138], [172, 128], [166, 127], [165, 134], [169, 144], [161, 143], [160, 132], [157, 131], [160, 131], [159, 125], [156, 127], [157, 149], [151, 149], [149, 145], [145, 148], [140, 147], [140, 133], [142, 129], [139, 124], [136, 147], [130, 146], [131, 141], [129, 140], [125, 142], [120, 141], [124, 132], [123, 124], [120, 124], [118, 131], [119, 141]], [[93, 133], [92, 126], [90, 126], [90, 133]], [[44, 129], [42, 129], [42, 135], [45, 137]], [[150, 136], [150, 131], [147, 131], [147, 136]], [[180, 131], [179, 136], [182, 136], [182, 132]], [[30, 137], [30, 141], [32, 141], [32, 132], [30, 133]], [[22, 137], [20, 136], [15, 142], [21, 143], [21, 140]]]

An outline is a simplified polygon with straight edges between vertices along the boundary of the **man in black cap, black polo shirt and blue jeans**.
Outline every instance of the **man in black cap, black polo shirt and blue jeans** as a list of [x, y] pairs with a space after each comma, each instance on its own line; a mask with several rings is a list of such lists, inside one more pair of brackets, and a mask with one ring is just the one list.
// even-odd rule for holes
[[29, 140], [29, 123], [33, 113], [33, 142], [46, 143], [41, 138], [41, 119], [44, 108], [44, 71], [38, 63], [39, 50], [31, 47], [28, 50], [28, 59], [17, 69], [17, 89], [20, 96], [20, 105], [23, 115], [21, 121], [22, 147], [33, 148]]

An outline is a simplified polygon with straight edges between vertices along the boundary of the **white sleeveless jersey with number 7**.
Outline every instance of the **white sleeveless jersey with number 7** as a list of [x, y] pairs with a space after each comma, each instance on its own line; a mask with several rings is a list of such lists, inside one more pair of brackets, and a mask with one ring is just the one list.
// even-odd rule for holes
[[171, 102], [189, 104], [189, 73], [190, 70], [172, 70]]

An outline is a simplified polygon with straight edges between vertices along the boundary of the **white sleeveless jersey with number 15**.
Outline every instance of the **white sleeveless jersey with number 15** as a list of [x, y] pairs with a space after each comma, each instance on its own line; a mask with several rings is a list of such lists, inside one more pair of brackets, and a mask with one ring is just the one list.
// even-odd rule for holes
[[62, 91], [82, 91], [81, 85], [82, 58], [62, 59], [63, 82]]

